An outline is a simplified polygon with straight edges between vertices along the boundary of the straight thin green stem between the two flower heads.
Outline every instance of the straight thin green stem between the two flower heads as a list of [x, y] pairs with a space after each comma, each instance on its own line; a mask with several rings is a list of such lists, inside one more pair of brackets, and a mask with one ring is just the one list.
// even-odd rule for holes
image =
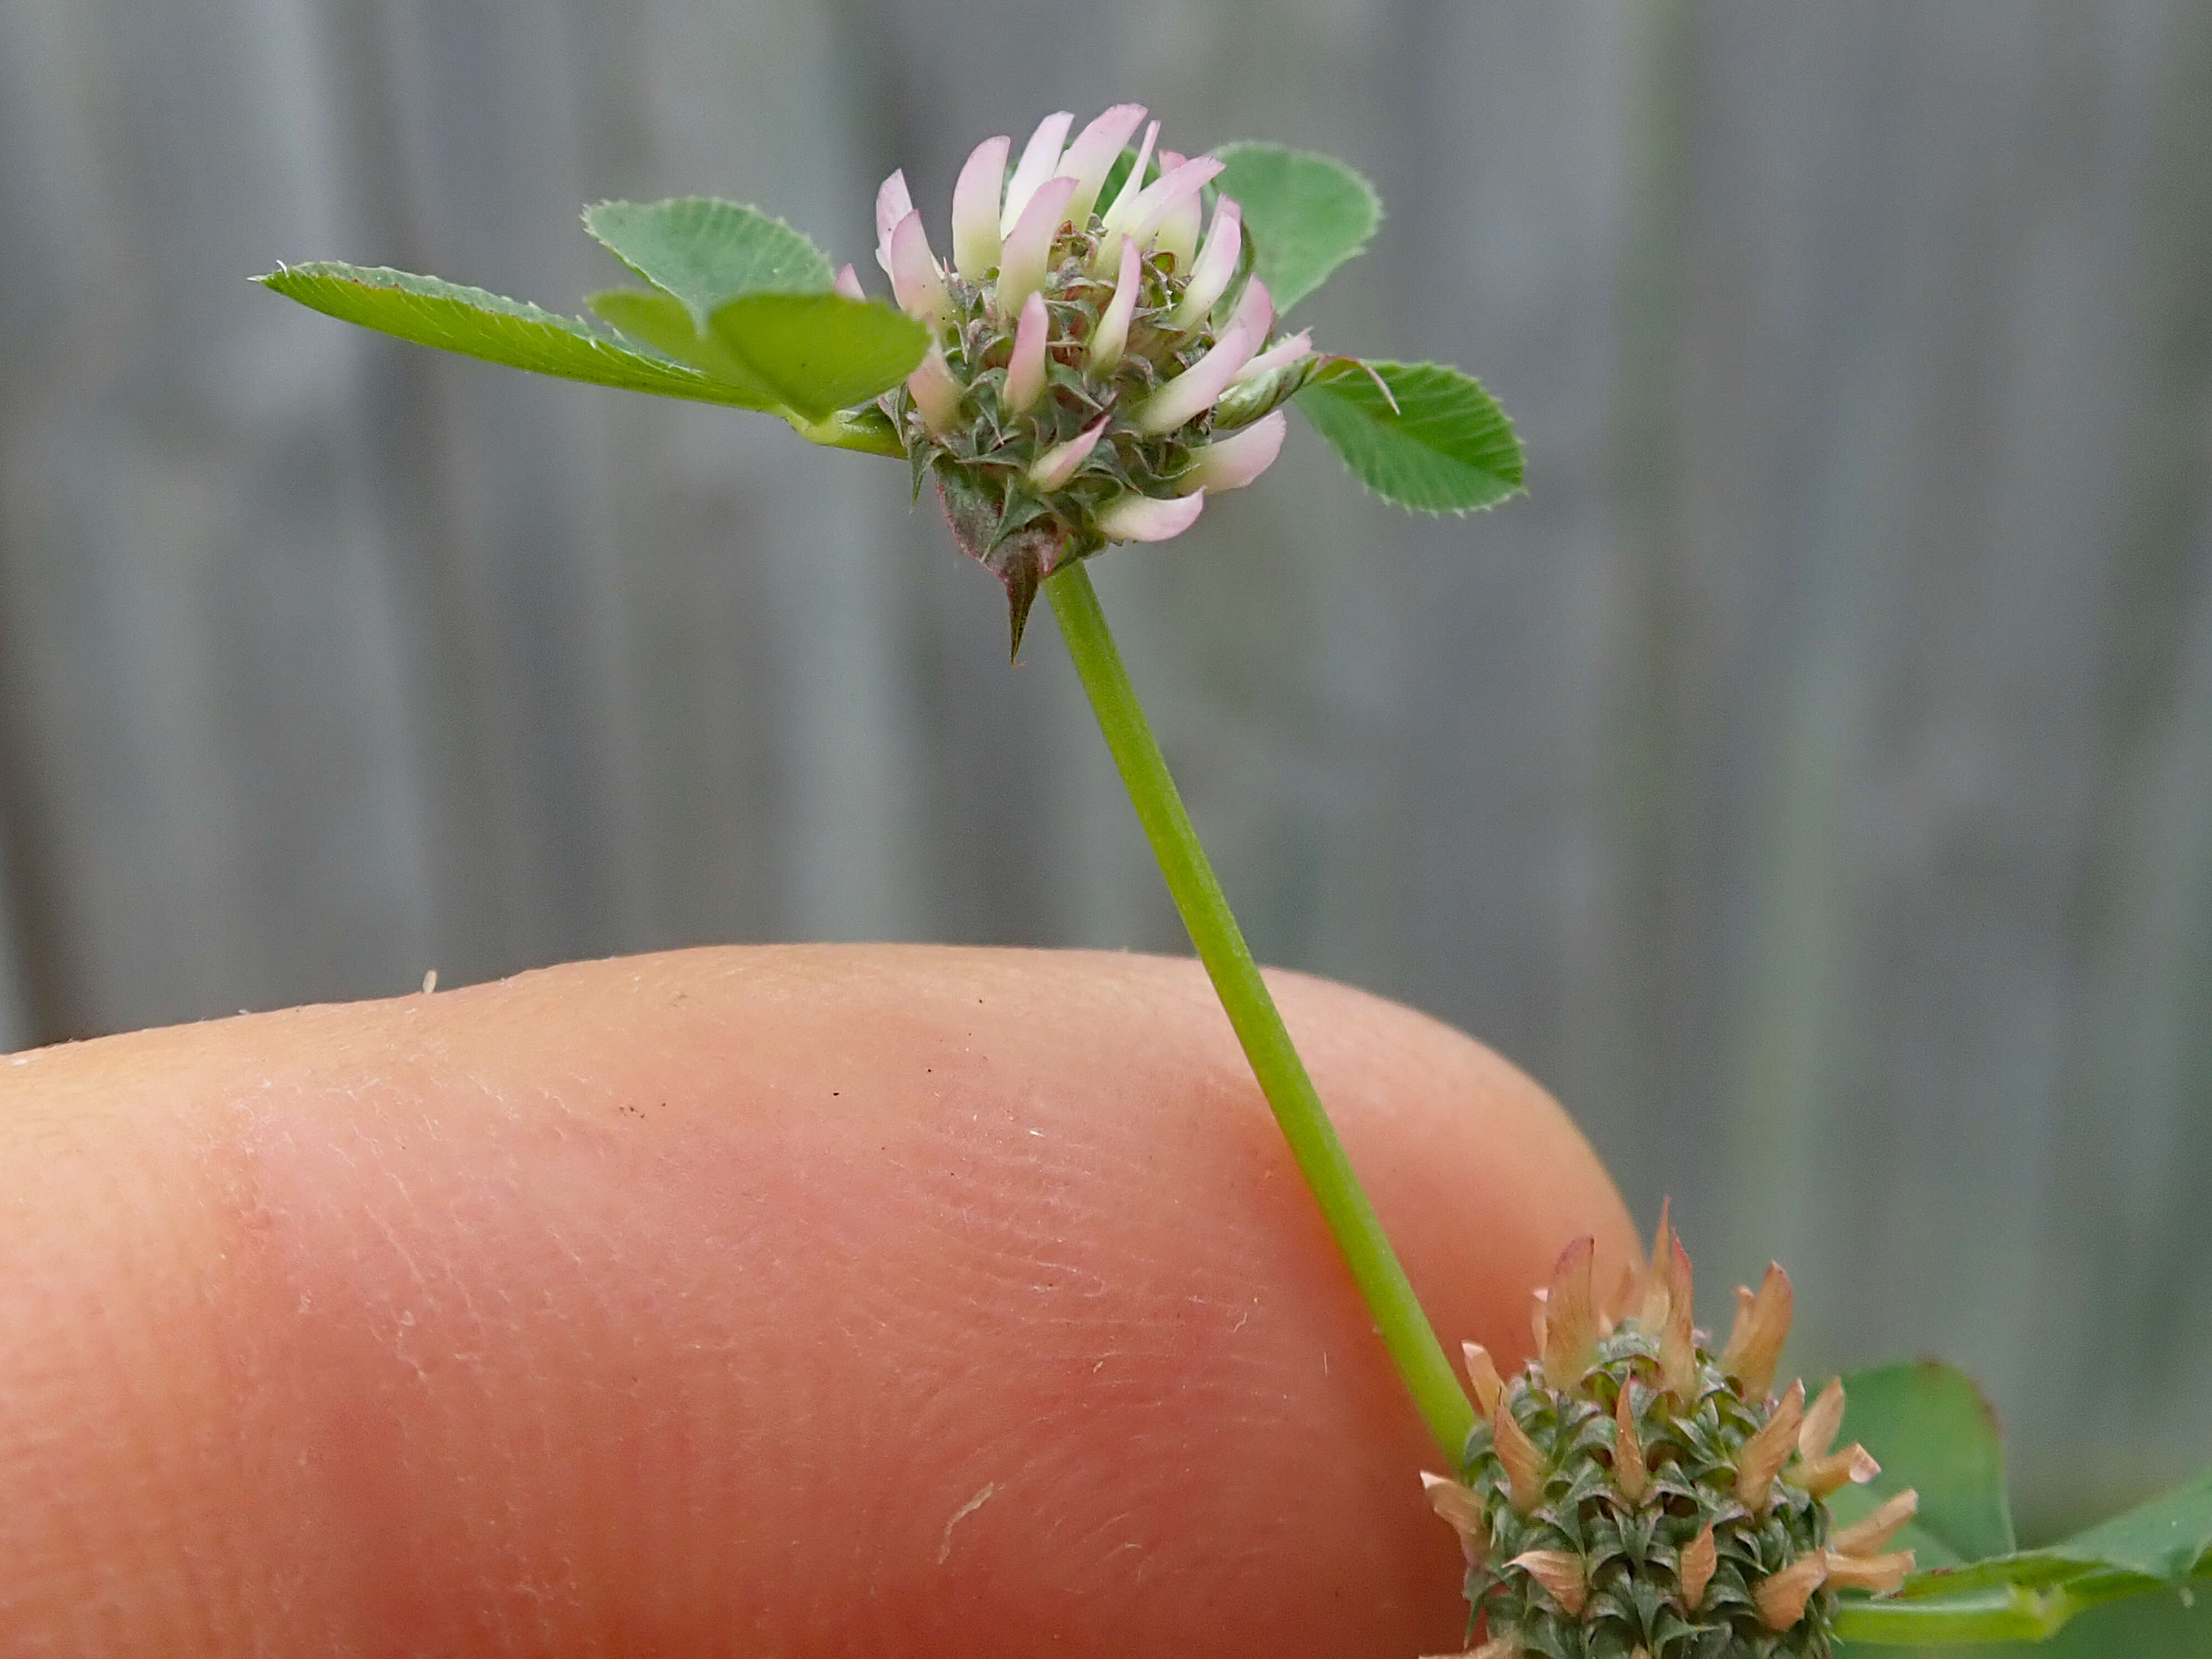
[[1212, 975], [1214, 993], [1230, 1015], [1245, 1060], [1252, 1062], [1252, 1075], [1274, 1108], [1274, 1121], [1290, 1141], [1290, 1155], [1321, 1206], [1321, 1219], [1329, 1225], [1352, 1281], [1374, 1310], [1398, 1376], [1405, 1378], [1451, 1469], [1458, 1469], [1467, 1436], [1475, 1427], [1473, 1407], [1451, 1371], [1451, 1360], [1444, 1358], [1442, 1343], [1436, 1340], [1429, 1316], [1420, 1312], [1413, 1285], [1398, 1265], [1398, 1252], [1391, 1250], [1383, 1221], [1367, 1201], [1343, 1141], [1336, 1139], [1314, 1079], [1305, 1075], [1305, 1062], [1298, 1060], [1290, 1031], [1283, 1029], [1283, 1015], [1276, 1013], [1267, 982], [1261, 980], [1252, 949], [1221, 894], [1221, 883], [1214, 880], [1199, 832], [1190, 827], [1190, 814], [1183, 812], [1183, 799], [1168, 774], [1168, 759], [1159, 752], [1137, 703], [1137, 688], [1128, 684], [1128, 670], [1106, 628], [1106, 613], [1099, 608], [1091, 575], [1082, 564], [1071, 564], [1044, 584], [1044, 593], [1053, 602], [1075, 672], [1091, 695], [1106, 748], [1113, 750], [1121, 783], [1152, 843], [1152, 856], [1159, 858], [1159, 874], [1168, 878], [1168, 891], [1183, 914], [1199, 960]]

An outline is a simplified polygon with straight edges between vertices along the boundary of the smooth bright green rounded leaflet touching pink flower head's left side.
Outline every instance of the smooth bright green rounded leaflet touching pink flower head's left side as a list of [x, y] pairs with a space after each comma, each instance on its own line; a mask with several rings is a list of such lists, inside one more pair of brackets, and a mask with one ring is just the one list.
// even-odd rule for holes
[[929, 330], [905, 312], [843, 294], [748, 294], [717, 310], [708, 334], [752, 380], [816, 420], [889, 392], [929, 349]]

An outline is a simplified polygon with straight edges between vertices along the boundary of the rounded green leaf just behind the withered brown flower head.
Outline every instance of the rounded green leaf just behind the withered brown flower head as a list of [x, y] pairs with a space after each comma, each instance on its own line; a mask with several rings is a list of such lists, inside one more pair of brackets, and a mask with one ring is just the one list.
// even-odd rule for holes
[[1907, 1486], [1920, 1493], [1911, 1548], [1920, 1566], [1958, 1566], [2013, 1551], [1997, 1413], [1955, 1365], [1880, 1365], [1843, 1378], [1843, 1442], [1858, 1440], [1882, 1464], [1871, 1486], [1836, 1493], [1845, 1524]]

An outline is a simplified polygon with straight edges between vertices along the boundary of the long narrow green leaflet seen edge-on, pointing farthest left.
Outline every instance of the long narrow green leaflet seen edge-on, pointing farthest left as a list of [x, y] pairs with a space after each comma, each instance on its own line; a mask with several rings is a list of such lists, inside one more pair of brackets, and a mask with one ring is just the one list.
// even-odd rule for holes
[[655, 392], [664, 398], [761, 407], [734, 385], [681, 363], [633, 352], [582, 319], [542, 312], [515, 299], [487, 294], [482, 288], [411, 276], [405, 270], [336, 263], [279, 265], [257, 281], [325, 316], [484, 363], [628, 392]]

